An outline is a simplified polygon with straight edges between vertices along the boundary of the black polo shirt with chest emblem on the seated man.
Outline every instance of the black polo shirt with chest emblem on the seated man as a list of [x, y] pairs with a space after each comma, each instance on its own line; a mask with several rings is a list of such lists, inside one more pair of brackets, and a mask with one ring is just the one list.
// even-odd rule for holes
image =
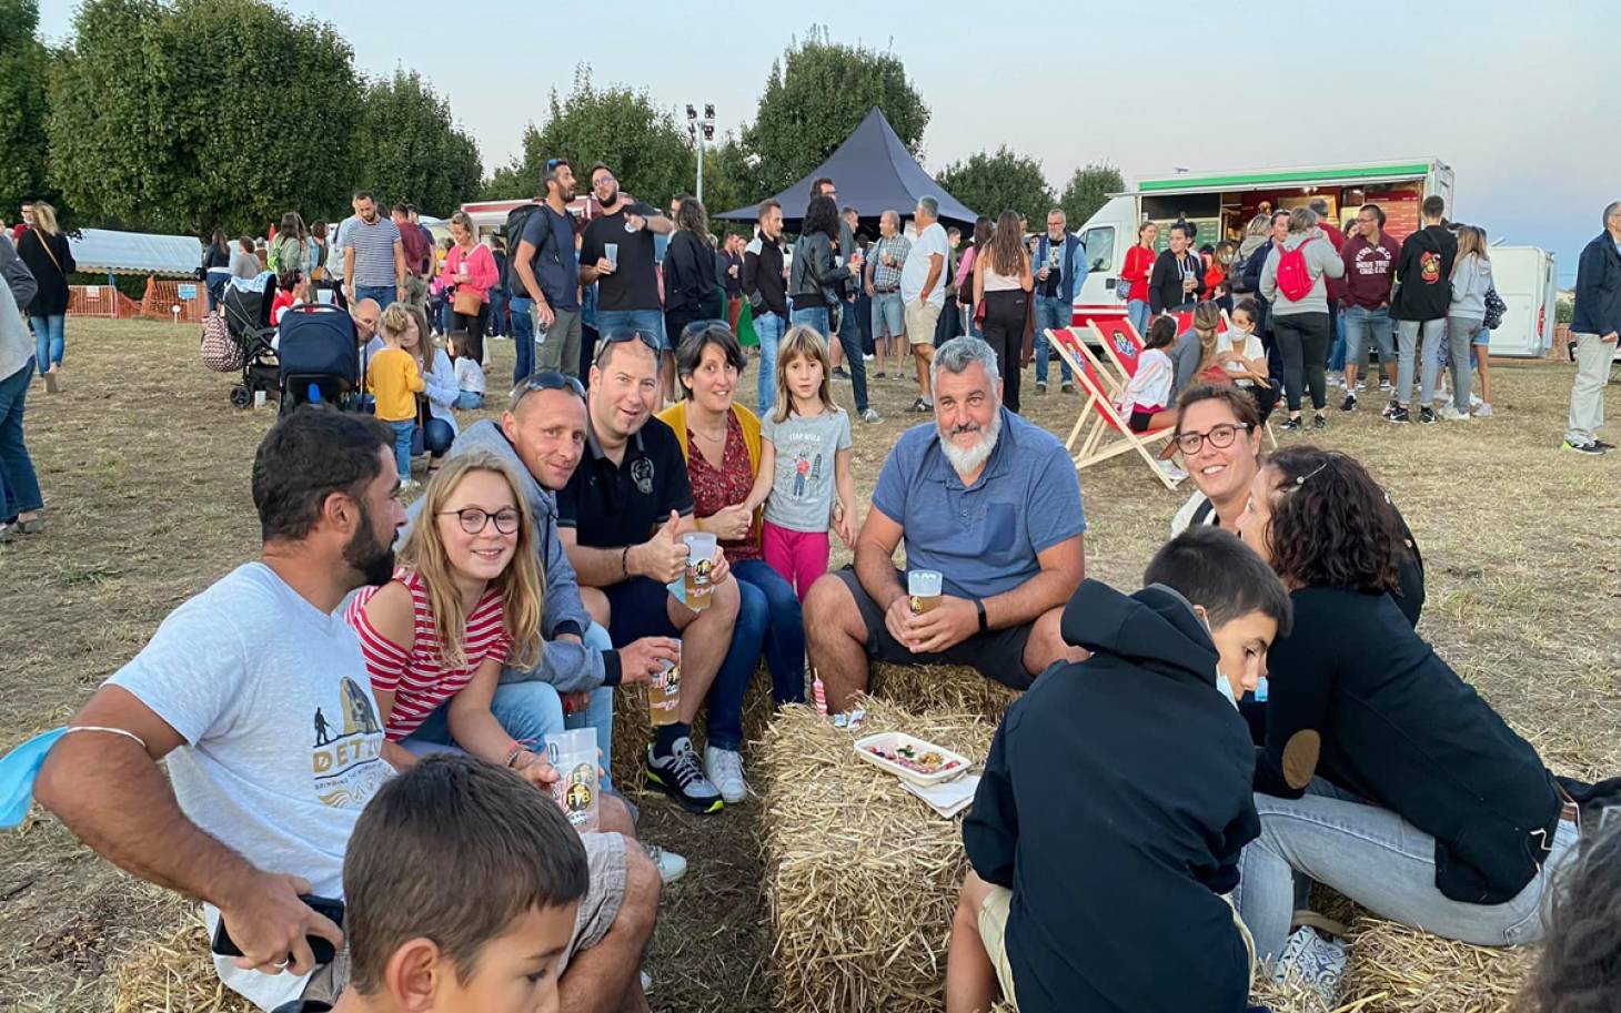
[[674, 431], [648, 418], [614, 464], [587, 421], [585, 455], [558, 493], [558, 527], [574, 528], [579, 545], [613, 549], [647, 541], [669, 511], [692, 512], [687, 462]]

